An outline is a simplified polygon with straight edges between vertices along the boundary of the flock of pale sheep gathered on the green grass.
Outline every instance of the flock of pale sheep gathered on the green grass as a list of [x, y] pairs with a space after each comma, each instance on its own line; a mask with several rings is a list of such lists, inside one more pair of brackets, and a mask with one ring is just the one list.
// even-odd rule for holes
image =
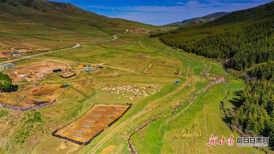
[[[126, 96], [125, 94], [122, 94], [121, 96], [124, 96], [125, 98], [129, 98], [130, 100], [133, 100], [134, 97], [138, 98], [146, 98], [149, 95], [146, 93], [145, 90], [148, 90], [148, 93], [154, 95], [156, 94], [156, 89], [158, 89], [158, 92], [160, 92], [160, 89], [162, 87], [159, 87], [157, 85], [152, 84], [151, 86], [148, 86], [145, 84], [145, 86], [142, 86], [138, 88], [137, 86], [121, 86], [121, 87], [116, 87], [116, 88], [108, 88], [105, 87], [102, 90], [106, 90], [108, 92], [108, 95], [115, 94], [115, 95], [120, 95], [121, 93], [128, 94], [129, 96]], [[140, 89], [144, 89], [140, 92]], [[115, 91], [115, 92], [110, 92], [110, 90]], [[121, 97], [118, 97], [120, 99]]]

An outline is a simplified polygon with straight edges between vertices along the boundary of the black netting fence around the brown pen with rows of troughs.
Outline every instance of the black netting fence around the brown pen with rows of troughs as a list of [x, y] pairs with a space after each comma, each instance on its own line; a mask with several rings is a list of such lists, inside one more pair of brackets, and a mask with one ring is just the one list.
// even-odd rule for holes
[[[102, 103], [101, 103], [101, 104], [102, 104]], [[103, 104], [107, 104], [107, 103], [103, 103]], [[95, 104], [93, 104], [93, 106], [94, 106], [94, 105], [95, 105]], [[110, 105], [110, 104], [109, 104], [109, 105]], [[114, 104], [114, 105], [115, 105], [115, 104]], [[116, 104], [116, 105], [118, 105], [118, 104]], [[119, 103], [119, 105], [121, 105], [121, 104]], [[117, 120], [119, 120], [120, 117], [122, 117], [122, 116], [123, 116], [123, 115], [132, 107], [132, 104], [131, 104], [131, 103], [130, 103], [130, 104], [126, 103], [125, 105], [130, 105], [130, 106], [126, 109], [126, 111], [125, 111], [121, 116], [119, 116], [117, 119], [115, 119], [115, 120], [112, 121], [110, 124], [108, 124], [107, 127], [110, 127], [113, 123], [115, 123]], [[92, 106], [92, 107], [93, 107], [93, 106]], [[92, 107], [90, 107], [89, 110], [90, 110]], [[89, 111], [89, 110], [88, 110], [88, 111]], [[84, 116], [88, 111], [86, 111], [82, 116]], [[81, 116], [81, 117], [82, 117], [82, 116]], [[80, 119], [81, 117], [78, 117], [76, 120]], [[76, 121], [76, 120], [75, 120], [75, 121]], [[88, 144], [90, 143], [90, 141], [92, 141], [96, 136], [98, 136], [100, 133], [102, 133], [102, 132], [104, 131], [104, 128], [103, 128], [103, 129], [100, 130], [97, 134], [93, 135], [93, 137], [92, 137], [91, 139], [87, 140], [86, 142], [76, 141], [76, 140], [74, 140], [74, 139], [70, 139], [70, 138], [68, 138], [68, 137], [63, 137], [63, 136], [60, 136], [60, 135], [55, 134], [55, 133], [57, 133], [58, 130], [60, 130], [60, 129], [62, 129], [62, 128], [68, 126], [68, 125], [70, 125], [70, 123], [72, 123], [72, 122], [74, 122], [74, 119], [73, 119], [73, 121], [69, 122], [69, 123], [66, 124], [65, 126], [63, 125], [62, 127], [60, 127], [60, 128], [58, 128], [58, 129], [56, 129], [55, 131], [53, 131], [53, 132], [51, 133], [51, 135], [52, 135], [52, 136], [55, 136], [55, 137], [58, 137], [58, 138], [60, 138], [60, 139], [65, 139], [65, 140], [67, 140], [67, 141], [70, 141], [70, 142], [73, 142], [73, 143], [76, 143], [76, 144], [79, 144], [79, 145], [88, 145]]]

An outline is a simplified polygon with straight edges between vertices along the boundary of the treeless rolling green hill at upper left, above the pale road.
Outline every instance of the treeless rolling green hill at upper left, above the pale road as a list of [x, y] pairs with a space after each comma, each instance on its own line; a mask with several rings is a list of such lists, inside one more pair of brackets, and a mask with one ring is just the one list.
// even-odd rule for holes
[[[68, 3], [43, 0], [0, 1], [0, 45], [40, 47], [41, 42], [93, 42], [112, 39], [130, 27], [158, 28], [125, 19], [108, 18]], [[132, 29], [132, 28], [131, 28]], [[67, 43], [64, 43], [67, 42]]]

